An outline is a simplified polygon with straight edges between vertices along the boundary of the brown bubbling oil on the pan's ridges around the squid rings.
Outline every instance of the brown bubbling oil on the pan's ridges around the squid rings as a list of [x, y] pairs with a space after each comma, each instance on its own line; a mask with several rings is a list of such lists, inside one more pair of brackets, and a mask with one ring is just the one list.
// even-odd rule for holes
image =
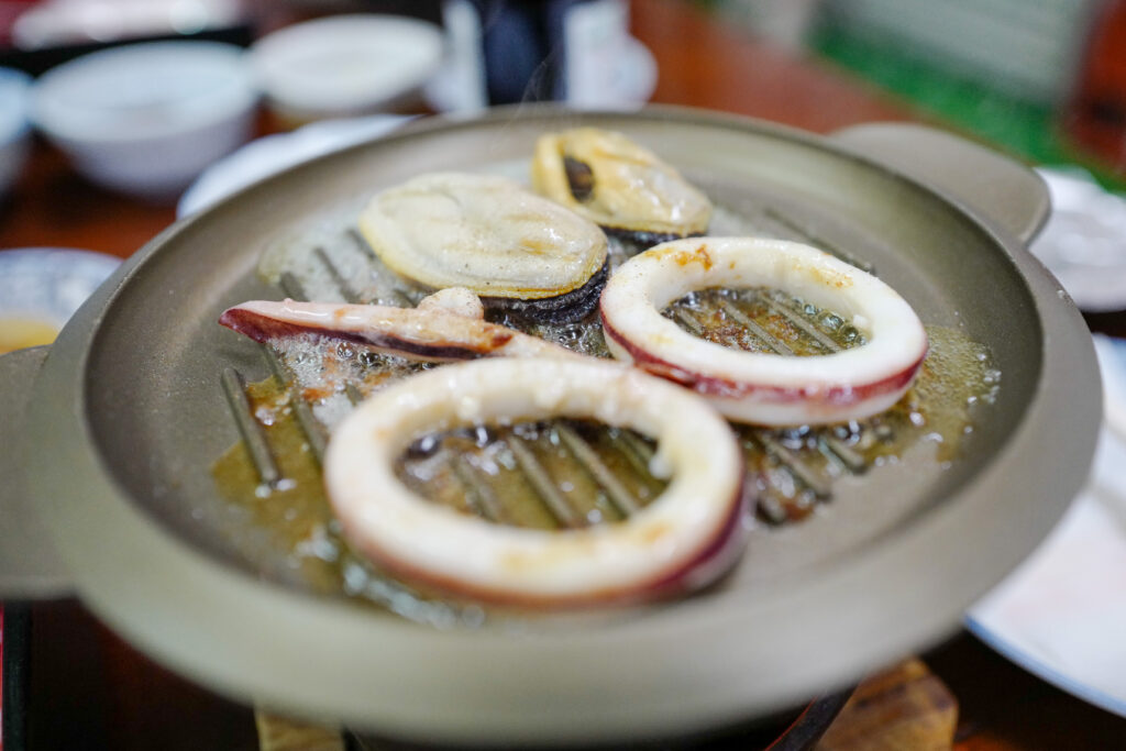
[[[811, 315], [823, 314], [811, 311]], [[543, 331], [544, 327], [531, 327]], [[909, 449], [931, 446], [935, 461], [956, 461], [978, 412], [989, 409], [1000, 388], [1000, 373], [984, 347], [963, 332], [929, 327], [930, 351], [919, 377], [893, 409], [865, 421], [792, 428], [734, 427], [758, 499], [758, 516], [769, 530], [799, 524], [814, 511], [847, 513], [832, 507], [833, 485], [841, 479], [878, 471]], [[547, 332], [555, 341], [588, 355], [605, 354], [600, 337], [573, 325]], [[847, 332], [842, 338], [849, 339]], [[847, 343], [847, 342], [846, 342]], [[263, 486], [240, 444], [214, 466], [226, 502], [247, 512], [250, 528], [269, 543], [259, 567], [285, 569], [312, 591], [376, 604], [387, 610], [438, 626], [479, 624], [485, 611], [472, 602], [396, 581], [348, 545], [325, 495], [320, 464], [294, 414], [294, 399], [312, 404], [331, 427], [352, 401], [375, 393], [418, 369], [440, 367], [387, 357], [357, 345], [300, 337], [275, 342], [293, 383], [276, 378], [248, 388], [252, 414], [286, 479]], [[352, 393], [349, 396], [349, 393]], [[564, 528], [615, 524], [625, 515], [589, 470], [578, 466], [562, 433], [578, 435], [644, 507], [660, 495], [664, 481], [646, 471], [655, 446], [643, 436], [588, 421], [552, 420], [517, 426], [471, 426], [414, 441], [396, 463], [400, 480], [423, 498], [497, 524]], [[575, 518], [561, 520], [543, 499], [513, 454], [518, 441], [530, 453]], [[471, 480], [467, 476], [472, 475]], [[280, 561], [282, 563], [278, 563]], [[493, 609], [489, 610], [494, 613]]]

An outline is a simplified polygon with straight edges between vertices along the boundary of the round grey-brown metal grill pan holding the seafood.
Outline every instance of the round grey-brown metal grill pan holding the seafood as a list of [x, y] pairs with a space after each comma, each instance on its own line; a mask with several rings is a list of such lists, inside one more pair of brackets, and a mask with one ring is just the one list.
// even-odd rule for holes
[[[256, 275], [271, 243], [331, 241], [343, 207], [423, 171], [519, 169], [537, 135], [580, 124], [625, 132], [763, 226], [870, 263], [926, 323], [986, 346], [1002, 388], [959, 458], [944, 470], [906, 456], [850, 479], [826, 512], [757, 533], [715, 591], [608, 617], [441, 631], [262, 581], [231, 543], [209, 467], [239, 438], [224, 368], [268, 372], [220, 312], [282, 296]], [[492, 744], [729, 724], [933, 642], [1062, 513], [1098, 419], [1074, 307], [956, 200], [741, 118], [520, 109], [328, 155], [171, 227], [63, 332], [25, 432], [28, 486], [79, 592], [141, 649], [283, 710]]]

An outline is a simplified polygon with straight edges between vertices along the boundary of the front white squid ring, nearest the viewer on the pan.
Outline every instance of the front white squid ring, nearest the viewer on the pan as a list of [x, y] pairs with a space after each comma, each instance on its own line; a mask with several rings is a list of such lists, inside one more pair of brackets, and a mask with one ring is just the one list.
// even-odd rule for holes
[[[582, 417], [659, 441], [671, 482], [617, 524], [544, 530], [428, 501], [394, 463], [419, 437], [481, 422]], [[744, 466], [725, 420], [685, 390], [606, 360], [494, 359], [412, 376], [361, 403], [324, 462], [348, 539], [408, 580], [486, 601], [568, 606], [700, 587], [742, 547]]]

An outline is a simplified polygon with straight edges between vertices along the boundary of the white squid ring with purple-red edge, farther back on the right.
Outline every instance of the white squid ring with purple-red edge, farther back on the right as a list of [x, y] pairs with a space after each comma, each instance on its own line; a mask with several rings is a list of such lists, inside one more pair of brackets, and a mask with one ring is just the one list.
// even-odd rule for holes
[[[699, 339], [661, 315], [709, 287], [774, 287], [835, 311], [866, 343], [831, 355], [781, 357]], [[815, 248], [757, 238], [695, 238], [624, 263], [600, 301], [615, 357], [707, 397], [731, 420], [817, 424], [863, 419], [903, 396], [927, 355], [911, 306], [876, 277]]]

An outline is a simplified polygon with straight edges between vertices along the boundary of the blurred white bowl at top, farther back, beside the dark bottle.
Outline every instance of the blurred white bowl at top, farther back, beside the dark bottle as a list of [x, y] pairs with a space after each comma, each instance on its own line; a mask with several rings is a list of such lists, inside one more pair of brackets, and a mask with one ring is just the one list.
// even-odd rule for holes
[[374, 114], [418, 96], [441, 64], [443, 44], [426, 21], [348, 14], [268, 34], [250, 60], [269, 106], [300, 124]]

